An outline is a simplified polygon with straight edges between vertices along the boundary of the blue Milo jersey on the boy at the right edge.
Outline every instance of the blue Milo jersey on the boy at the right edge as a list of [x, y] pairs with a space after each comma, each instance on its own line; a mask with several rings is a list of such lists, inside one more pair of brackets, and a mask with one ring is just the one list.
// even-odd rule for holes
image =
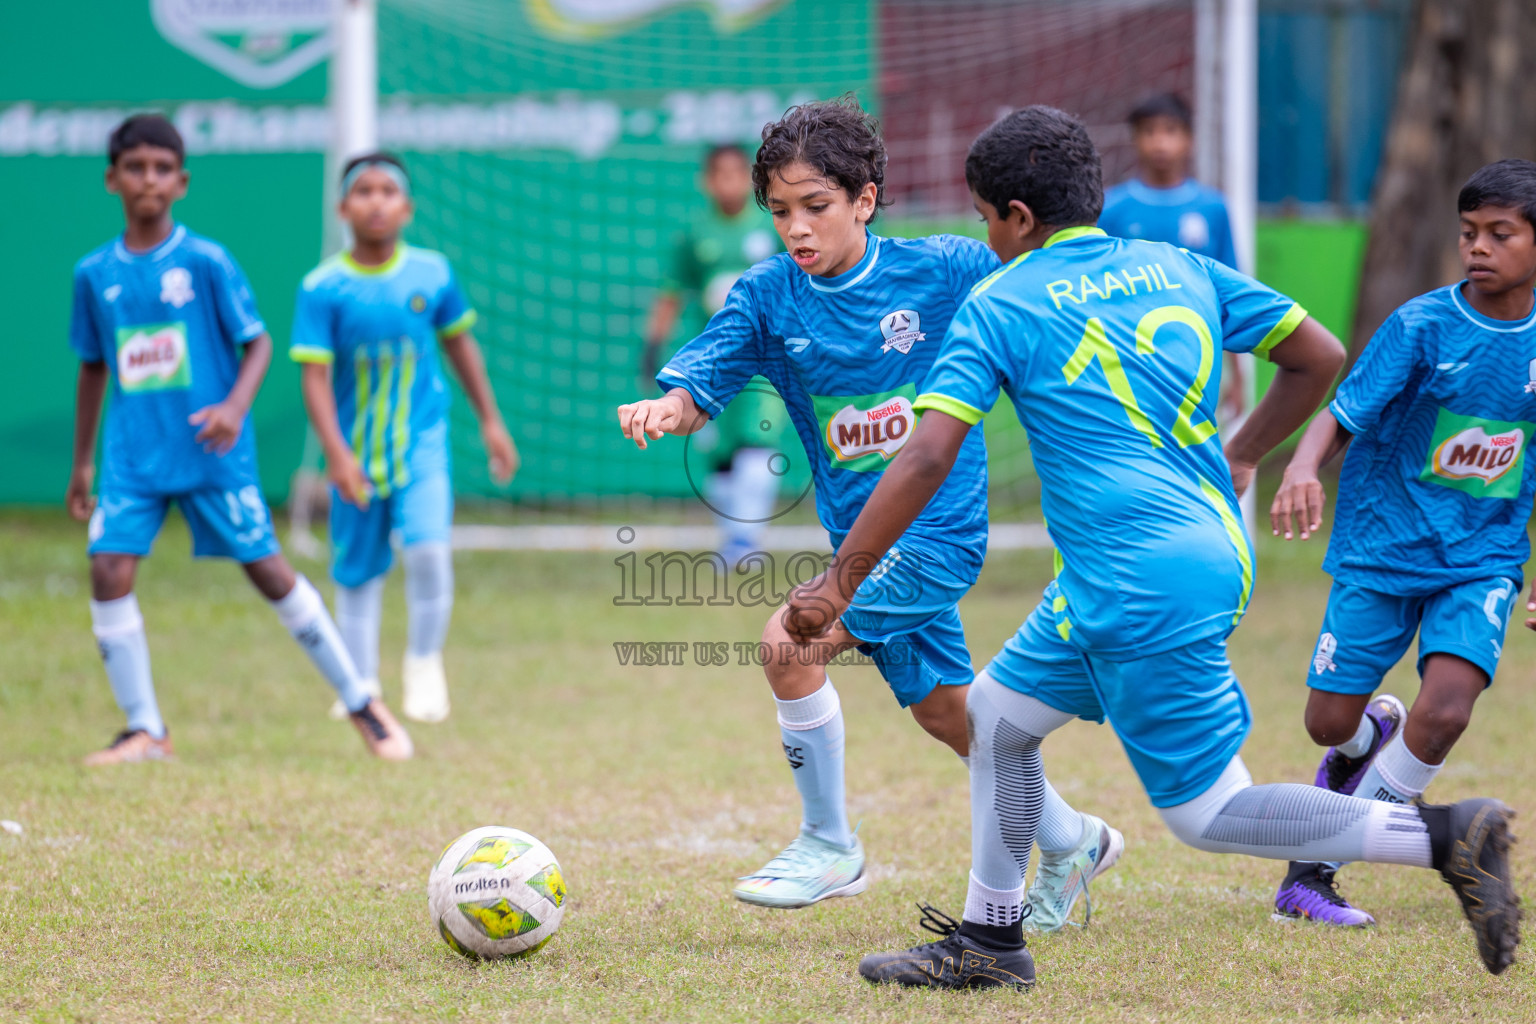
[[1421, 295], [1387, 318], [1329, 408], [1355, 439], [1326, 571], [1389, 594], [1522, 579], [1536, 313], [1490, 319], [1459, 284]]

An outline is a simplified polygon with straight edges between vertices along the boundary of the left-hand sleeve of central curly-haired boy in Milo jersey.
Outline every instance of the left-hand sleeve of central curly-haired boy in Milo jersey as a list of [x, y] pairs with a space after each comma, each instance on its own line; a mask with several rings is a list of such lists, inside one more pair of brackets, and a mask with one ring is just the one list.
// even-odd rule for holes
[[699, 408], [716, 418], [766, 364], [763, 321], [751, 278], [731, 287], [703, 333], [679, 348], [656, 375], [662, 391], [687, 388]]

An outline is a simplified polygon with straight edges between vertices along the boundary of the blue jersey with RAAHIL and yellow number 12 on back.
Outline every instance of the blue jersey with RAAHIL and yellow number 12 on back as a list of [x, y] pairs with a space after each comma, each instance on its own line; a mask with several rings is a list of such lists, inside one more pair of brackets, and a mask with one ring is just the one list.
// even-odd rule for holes
[[1236, 625], [1253, 553], [1217, 436], [1218, 350], [1263, 355], [1304, 316], [1213, 259], [1097, 227], [975, 287], [917, 408], [975, 424], [1012, 398], [1068, 640], [1114, 660]]

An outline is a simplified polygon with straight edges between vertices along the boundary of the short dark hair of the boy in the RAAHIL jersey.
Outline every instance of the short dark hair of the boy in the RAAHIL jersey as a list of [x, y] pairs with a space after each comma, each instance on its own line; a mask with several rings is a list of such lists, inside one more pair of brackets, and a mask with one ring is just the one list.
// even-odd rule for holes
[[1052, 227], [1094, 224], [1104, 209], [1104, 170], [1087, 129], [1051, 106], [1014, 111], [977, 135], [965, 181], [1000, 215], [1018, 200]]

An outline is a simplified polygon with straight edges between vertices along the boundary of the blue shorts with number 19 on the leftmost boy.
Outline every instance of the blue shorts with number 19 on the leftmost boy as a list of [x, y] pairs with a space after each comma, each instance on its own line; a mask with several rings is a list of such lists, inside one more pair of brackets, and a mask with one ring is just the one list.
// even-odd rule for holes
[[272, 514], [261, 487], [206, 488], [184, 494], [103, 491], [91, 514], [91, 554], [144, 557], [166, 520], [170, 502], [192, 530], [192, 554], [200, 559], [235, 559], [243, 565], [281, 551], [272, 533]]

